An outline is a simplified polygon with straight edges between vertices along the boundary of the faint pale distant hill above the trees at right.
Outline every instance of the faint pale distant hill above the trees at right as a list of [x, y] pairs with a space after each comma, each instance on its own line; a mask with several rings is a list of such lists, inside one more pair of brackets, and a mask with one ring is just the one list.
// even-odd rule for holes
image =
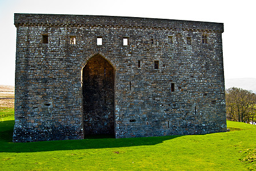
[[225, 88], [238, 87], [256, 93], [256, 78], [225, 79]]

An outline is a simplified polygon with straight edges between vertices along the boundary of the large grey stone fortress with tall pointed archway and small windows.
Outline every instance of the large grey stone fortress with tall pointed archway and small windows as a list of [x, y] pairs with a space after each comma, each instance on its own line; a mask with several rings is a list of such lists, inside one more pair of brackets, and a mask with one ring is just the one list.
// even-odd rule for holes
[[226, 131], [222, 23], [14, 14], [13, 141]]

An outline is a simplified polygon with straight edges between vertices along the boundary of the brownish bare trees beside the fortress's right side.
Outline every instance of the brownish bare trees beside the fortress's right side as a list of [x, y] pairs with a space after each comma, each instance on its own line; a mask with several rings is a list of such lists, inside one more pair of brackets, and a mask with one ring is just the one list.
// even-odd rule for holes
[[236, 87], [226, 89], [226, 111], [227, 120], [255, 124], [255, 93]]

